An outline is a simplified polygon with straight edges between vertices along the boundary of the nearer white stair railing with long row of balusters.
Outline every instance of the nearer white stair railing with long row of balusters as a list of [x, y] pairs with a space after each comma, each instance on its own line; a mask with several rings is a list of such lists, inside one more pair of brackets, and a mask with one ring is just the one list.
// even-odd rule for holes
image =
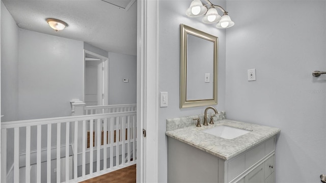
[[3, 122], [1, 182], [78, 182], [133, 165], [136, 124], [135, 111]]

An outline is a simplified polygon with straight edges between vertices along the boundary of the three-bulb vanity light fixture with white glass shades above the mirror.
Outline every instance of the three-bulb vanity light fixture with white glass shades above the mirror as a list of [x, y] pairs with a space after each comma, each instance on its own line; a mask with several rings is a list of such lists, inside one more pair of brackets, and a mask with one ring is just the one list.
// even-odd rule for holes
[[[202, 19], [204, 23], [218, 23], [216, 27], [218, 28], [229, 28], [234, 25], [234, 22], [231, 20], [228, 12], [225, 11], [219, 5], [213, 5], [209, 0], [204, 0], [207, 2], [206, 5], [203, 5], [201, 0], [193, 0], [190, 7], [186, 10], [186, 15], [188, 17], [199, 17], [205, 15]], [[216, 8], [220, 9], [223, 12], [223, 16], [219, 15]]]

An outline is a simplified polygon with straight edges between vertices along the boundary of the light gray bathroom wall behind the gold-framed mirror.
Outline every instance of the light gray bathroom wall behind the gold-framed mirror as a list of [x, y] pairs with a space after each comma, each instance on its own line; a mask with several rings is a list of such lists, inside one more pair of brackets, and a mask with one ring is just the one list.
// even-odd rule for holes
[[[225, 7], [224, 1], [212, 1]], [[159, 1], [158, 19], [158, 91], [168, 92], [169, 106], [158, 108], [158, 180], [167, 182], [168, 147], [166, 119], [203, 114], [205, 107], [179, 108], [180, 84], [180, 23], [194, 27], [211, 35], [219, 37], [218, 58], [218, 105], [216, 109], [225, 110], [225, 29], [218, 29], [214, 25], [201, 22], [201, 18], [188, 18], [185, 10], [191, 1]], [[158, 100], [158, 99], [157, 99]]]

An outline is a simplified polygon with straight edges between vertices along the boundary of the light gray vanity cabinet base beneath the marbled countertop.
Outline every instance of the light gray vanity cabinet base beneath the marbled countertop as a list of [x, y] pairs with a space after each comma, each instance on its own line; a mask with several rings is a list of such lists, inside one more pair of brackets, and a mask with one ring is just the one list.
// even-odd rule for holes
[[275, 182], [275, 135], [224, 160], [168, 138], [168, 182]]

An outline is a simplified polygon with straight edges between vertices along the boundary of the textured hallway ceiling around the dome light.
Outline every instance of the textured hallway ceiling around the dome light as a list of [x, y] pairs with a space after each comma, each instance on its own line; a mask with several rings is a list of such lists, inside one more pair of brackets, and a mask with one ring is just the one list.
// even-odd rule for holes
[[[3, 0], [20, 28], [85, 41], [115, 53], [137, 54], [137, 2], [119, 0], [122, 6], [100, 0]], [[118, 2], [119, 2], [118, 1]], [[56, 32], [46, 23], [56, 18], [68, 23]]]

